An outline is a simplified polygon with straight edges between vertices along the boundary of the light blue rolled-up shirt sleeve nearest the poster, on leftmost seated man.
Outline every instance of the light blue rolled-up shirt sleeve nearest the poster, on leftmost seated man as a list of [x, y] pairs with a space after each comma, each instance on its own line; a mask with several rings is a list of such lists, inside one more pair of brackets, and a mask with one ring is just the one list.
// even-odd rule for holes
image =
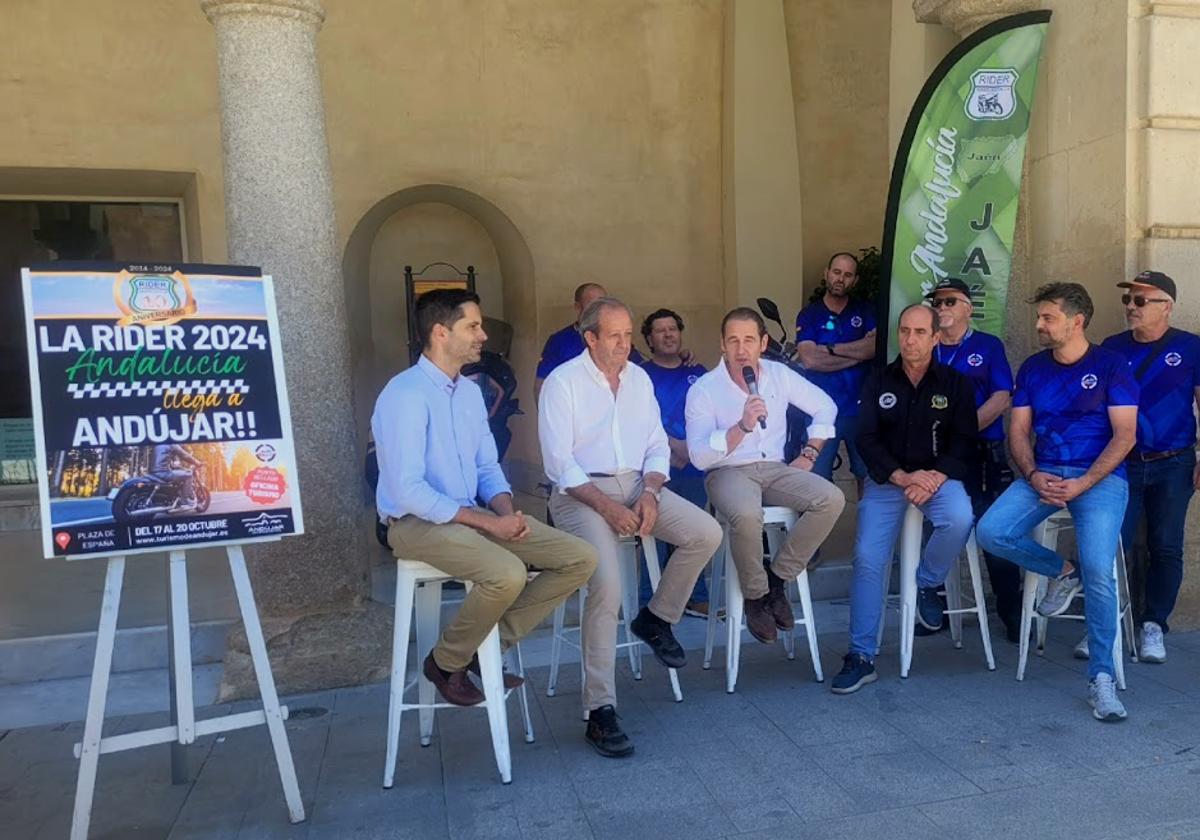
[[[412, 514], [442, 524], [458, 512], [461, 505], [425, 479], [428, 422], [424, 400], [392, 389], [379, 395], [371, 416], [371, 432], [379, 458], [376, 506], [380, 515], [398, 518]], [[494, 446], [493, 443], [493, 450]]]

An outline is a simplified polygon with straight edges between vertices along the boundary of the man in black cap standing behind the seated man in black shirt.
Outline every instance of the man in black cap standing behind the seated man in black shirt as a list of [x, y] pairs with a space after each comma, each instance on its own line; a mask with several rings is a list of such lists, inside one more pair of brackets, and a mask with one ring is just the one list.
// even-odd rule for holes
[[[971, 326], [974, 307], [971, 288], [965, 282], [947, 277], [925, 295], [925, 300], [937, 312], [941, 326], [934, 359], [970, 379], [974, 390], [979, 439], [964, 485], [978, 521], [1013, 484], [1002, 419], [1013, 402], [1013, 368], [1008, 366], [1004, 343]], [[1021, 626], [1021, 572], [1015, 564], [991, 553], [984, 553], [984, 560], [996, 595], [996, 614], [1004, 624], [1008, 641], [1016, 642]]]

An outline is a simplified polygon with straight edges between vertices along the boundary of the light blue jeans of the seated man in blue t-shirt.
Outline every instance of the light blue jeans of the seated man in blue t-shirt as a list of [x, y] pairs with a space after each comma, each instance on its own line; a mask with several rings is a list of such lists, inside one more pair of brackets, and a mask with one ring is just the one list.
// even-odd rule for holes
[[[1079, 478], [1081, 467], [1044, 469], [1064, 479]], [[1091, 656], [1087, 676], [1112, 676], [1112, 642], [1117, 632], [1117, 589], [1112, 560], [1124, 518], [1129, 484], [1118, 475], [1106, 475], [1098, 485], [1067, 503], [1075, 523], [1079, 574], [1084, 582], [1084, 617]], [[1055, 577], [1062, 574], [1063, 559], [1030, 536], [1043, 520], [1060, 509], [1045, 504], [1024, 479], [1018, 479], [996, 499], [976, 528], [979, 547], [1012, 560], [1022, 569]]]

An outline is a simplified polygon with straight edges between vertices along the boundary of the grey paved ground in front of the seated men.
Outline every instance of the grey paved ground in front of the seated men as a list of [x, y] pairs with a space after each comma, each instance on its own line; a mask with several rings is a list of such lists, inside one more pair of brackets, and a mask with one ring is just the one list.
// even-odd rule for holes
[[[1046, 656], [1031, 658], [1024, 683], [1013, 678], [1015, 647], [998, 635], [997, 670], [984, 668], [971, 623], [962, 650], [948, 635], [918, 638], [912, 677], [900, 680], [892, 631], [880, 682], [850, 697], [811, 682], [803, 644], [793, 662], [779, 646], [746, 644], [734, 695], [692, 652], [680, 704], [648, 659], [642, 682], [628, 666], [619, 673], [620, 713], [637, 745], [625, 761], [583, 742], [577, 665], [564, 668], [553, 698], [538, 667], [536, 743], [522, 742], [510, 706], [509, 786], [498, 781], [479, 712], [439, 713], [427, 749], [406, 718], [396, 787], [384, 791], [386, 688], [290, 697], [306, 823], [288, 824], [257, 728], [194, 744], [193, 780], [178, 787], [166, 746], [104, 756], [91, 836], [1200, 838], [1200, 632], [1169, 636], [1166, 665], [1130, 664], [1122, 695], [1130, 718], [1103, 725], [1087, 709], [1085, 664], [1070, 658], [1078, 630], [1051, 623]], [[689, 642], [701, 632], [690, 619]], [[829, 678], [845, 637], [821, 642]], [[164, 718], [118, 718], [112, 731]], [[80, 724], [0, 731], [6, 840], [67, 835], [80, 733]]]

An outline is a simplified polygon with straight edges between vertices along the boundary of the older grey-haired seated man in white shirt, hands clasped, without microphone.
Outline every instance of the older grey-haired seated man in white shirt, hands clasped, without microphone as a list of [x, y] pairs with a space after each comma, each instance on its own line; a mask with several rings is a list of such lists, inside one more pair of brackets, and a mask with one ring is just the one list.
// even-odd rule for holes
[[[641, 534], [676, 546], [650, 602], [630, 629], [667, 667], [686, 662], [671, 625], [721, 541], [715, 520], [664, 487], [671, 450], [650, 377], [630, 365], [634, 318], [601, 298], [583, 311], [587, 349], [554, 368], [538, 402], [542, 464], [554, 484], [554, 524], [590, 542], [600, 557], [583, 612], [587, 739], [610, 757], [634, 751], [617, 722], [617, 613], [622, 598], [618, 540]], [[654, 558], [656, 560], [656, 558]]]

